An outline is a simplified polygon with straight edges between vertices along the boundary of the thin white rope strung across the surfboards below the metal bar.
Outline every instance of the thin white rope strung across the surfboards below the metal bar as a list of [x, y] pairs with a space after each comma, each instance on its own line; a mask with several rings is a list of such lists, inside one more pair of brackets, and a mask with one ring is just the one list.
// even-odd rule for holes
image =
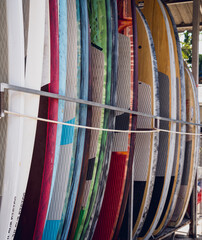
[[95, 130], [95, 131], [105, 131], [105, 132], [116, 132], [116, 133], [156, 133], [156, 132], [167, 132], [167, 133], [174, 133], [174, 134], [181, 134], [181, 135], [192, 135], [192, 136], [202, 136], [200, 133], [187, 133], [187, 132], [176, 132], [166, 129], [160, 129], [160, 128], [154, 128], [151, 130], [117, 130], [117, 129], [105, 129], [105, 128], [97, 128], [97, 127], [89, 127], [89, 126], [82, 126], [72, 123], [66, 123], [66, 122], [59, 122], [55, 120], [45, 119], [45, 118], [39, 118], [39, 117], [33, 117], [22, 113], [16, 113], [8, 110], [4, 110], [4, 113], [18, 116], [18, 117], [24, 117], [29, 118], [32, 120], [38, 120], [42, 122], [47, 123], [54, 123], [54, 124], [61, 124], [64, 126], [70, 126], [70, 127], [77, 127], [77, 128], [83, 128], [83, 129], [89, 129], [89, 130]]

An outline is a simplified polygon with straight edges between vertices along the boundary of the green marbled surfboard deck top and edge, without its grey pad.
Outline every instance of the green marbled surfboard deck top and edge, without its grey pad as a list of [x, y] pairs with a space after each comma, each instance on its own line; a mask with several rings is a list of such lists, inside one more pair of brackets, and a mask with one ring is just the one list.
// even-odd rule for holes
[[[108, 70], [108, 62], [107, 62], [107, 20], [106, 20], [106, 7], [104, 0], [98, 1], [88, 1], [88, 14], [89, 14], [89, 22], [91, 27], [91, 41], [93, 44], [103, 49], [104, 53], [104, 78], [103, 78], [103, 96], [102, 103], [110, 104], [110, 91], [111, 91], [111, 81], [107, 78]], [[101, 110], [101, 128], [108, 128], [108, 117], [109, 111]], [[92, 166], [92, 178], [86, 180], [85, 184], [85, 193], [86, 202], [85, 206], [82, 206], [80, 211], [79, 221], [76, 229], [75, 239], [79, 239], [81, 237], [81, 233], [84, 227], [84, 222], [87, 217], [88, 209], [90, 206], [90, 199], [92, 195], [92, 191], [94, 188], [94, 183], [98, 183], [97, 181], [97, 171], [100, 173], [101, 171], [101, 163], [99, 161], [99, 156], [103, 160], [105, 154], [105, 144], [106, 144], [107, 133], [99, 132], [98, 136], [98, 144], [96, 149], [96, 155], [94, 161], [89, 161], [93, 164]], [[102, 144], [101, 144], [102, 141]], [[101, 147], [102, 146], [102, 147]], [[91, 150], [90, 150], [91, 151]], [[96, 177], [97, 176], [97, 177]]]

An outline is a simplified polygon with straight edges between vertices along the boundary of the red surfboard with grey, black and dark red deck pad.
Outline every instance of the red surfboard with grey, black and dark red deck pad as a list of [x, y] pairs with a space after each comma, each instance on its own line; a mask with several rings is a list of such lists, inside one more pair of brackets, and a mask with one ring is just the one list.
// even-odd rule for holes
[[[119, 1], [118, 1], [119, 4]], [[135, 18], [135, 16], [134, 16]], [[119, 19], [120, 20], [120, 19]], [[137, 58], [133, 56], [132, 19], [126, 21], [126, 26], [131, 26], [124, 32], [123, 22], [119, 21], [119, 69], [117, 81], [117, 105], [123, 108], [137, 110], [137, 71], [134, 73]], [[135, 59], [135, 63], [134, 63]], [[123, 81], [124, 79], [124, 81]], [[116, 129], [136, 129], [136, 117], [128, 114], [116, 114]], [[115, 133], [113, 139], [112, 156], [107, 179], [104, 200], [99, 215], [93, 239], [112, 239], [116, 226], [118, 234], [129, 193], [132, 162], [134, 155], [134, 134]], [[116, 239], [116, 236], [115, 238]]]

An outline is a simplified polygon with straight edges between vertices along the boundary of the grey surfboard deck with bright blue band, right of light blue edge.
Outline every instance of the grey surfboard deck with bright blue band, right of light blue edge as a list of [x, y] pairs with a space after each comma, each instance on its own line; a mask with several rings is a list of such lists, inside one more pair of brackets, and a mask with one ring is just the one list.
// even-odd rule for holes
[[[75, 5], [76, 4], [76, 5]], [[68, 96], [72, 96], [75, 98], [80, 98], [80, 86], [81, 86], [81, 20], [80, 20], [80, 2], [77, 0], [76, 2], [68, 1], [69, 6], [68, 12], [67, 12], [67, 37], [68, 37], [68, 52], [71, 52], [71, 55], [68, 55], [68, 64], [72, 67], [67, 69], [67, 79], [70, 82], [71, 88], [69, 88], [69, 84], [67, 84], [66, 94]], [[73, 14], [73, 15], [72, 15]], [[77, 39], [77, 41], [74, 41], [74, 39]], [[75, 56], [77, 59], [75, 59]], [[72, 58], [73, 57], [73, 62]], [[75, 62], [76, 61], [76, 62]], [[77, 65], [76, 65], [77, 64]], [[76, 66], [76, 67], [75, 67]], [[77, 79], [77, 82], [75, 82], [75, 79]], [[70, 104], [70, 105], [69, 105]], [[69, 111], [69, 108], [73, 111]], [[79, 104], [74, 103], [66, 103], [66, 120], [67, 122], [72, 122], [75, 124], [79, 124]], [[64, 204], [62, 206], [62, 216], [59, 224], [59, 230], [57, 237], [60, 238], [63, 231], [63, 225], [65, 221], [67, 206], [68, 206], [68, 200], [70, 195], [70, 189], [72, 184], [72, 177], [73, 177], [73, 169], [75, 164], [75, 154], [76, 154], [76, 145], [77, 145], [77, 137], [78, 137], [78, 128], [74, 127], [68, 127], [64, 128], [64, 141], [61, 145], [62, 146], [62, 157], [63, 157], [63, 165], [61, 165], [61, 169], [63, 169], [64, 164], [68, 164], [67, 172], [62, 171], [63, 173], [63, 179], [67, 181], [67, 185], [62, 192], [64, 192]], [[69, 156], [69, 160], [66, 161], [66, 155]], [[68, 178], [66, 178], [68, 173]], [[60, 174], [59, 174], [60, 175]], [[58, 185], [60, 183], [58, 182]], [[57, 189], [57, 188], [56, 188]], [[56, 195], [57, 196], [57, 195]]]

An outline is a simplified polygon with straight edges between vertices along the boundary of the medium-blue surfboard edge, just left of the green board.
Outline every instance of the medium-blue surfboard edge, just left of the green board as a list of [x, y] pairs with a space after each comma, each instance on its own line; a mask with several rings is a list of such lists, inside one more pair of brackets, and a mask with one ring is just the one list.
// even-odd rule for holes
[[[89, 35], [88, 35], [88, 9], [87, 1], [80, 0], [80, 16], [81, 16], [81, 99], [88, 100], [89, 89]], [[88, 115], [88, 118], [91, 117]], [[86, 126], [87, 123], [87, 106], [80, 105], [79, 124]], [[63, 226], [62, 238], [66, 239], [71, 219], [74, 211], [74, 206], [77, 197], [79, 179], [81, 174], [82, 160], [84, 154], [85, 129], [78, 130], [77, 147], [75, 155], [75, 166], [73, 171], [72, 185], [70, 196], [67, 205], [67, 211]]]

